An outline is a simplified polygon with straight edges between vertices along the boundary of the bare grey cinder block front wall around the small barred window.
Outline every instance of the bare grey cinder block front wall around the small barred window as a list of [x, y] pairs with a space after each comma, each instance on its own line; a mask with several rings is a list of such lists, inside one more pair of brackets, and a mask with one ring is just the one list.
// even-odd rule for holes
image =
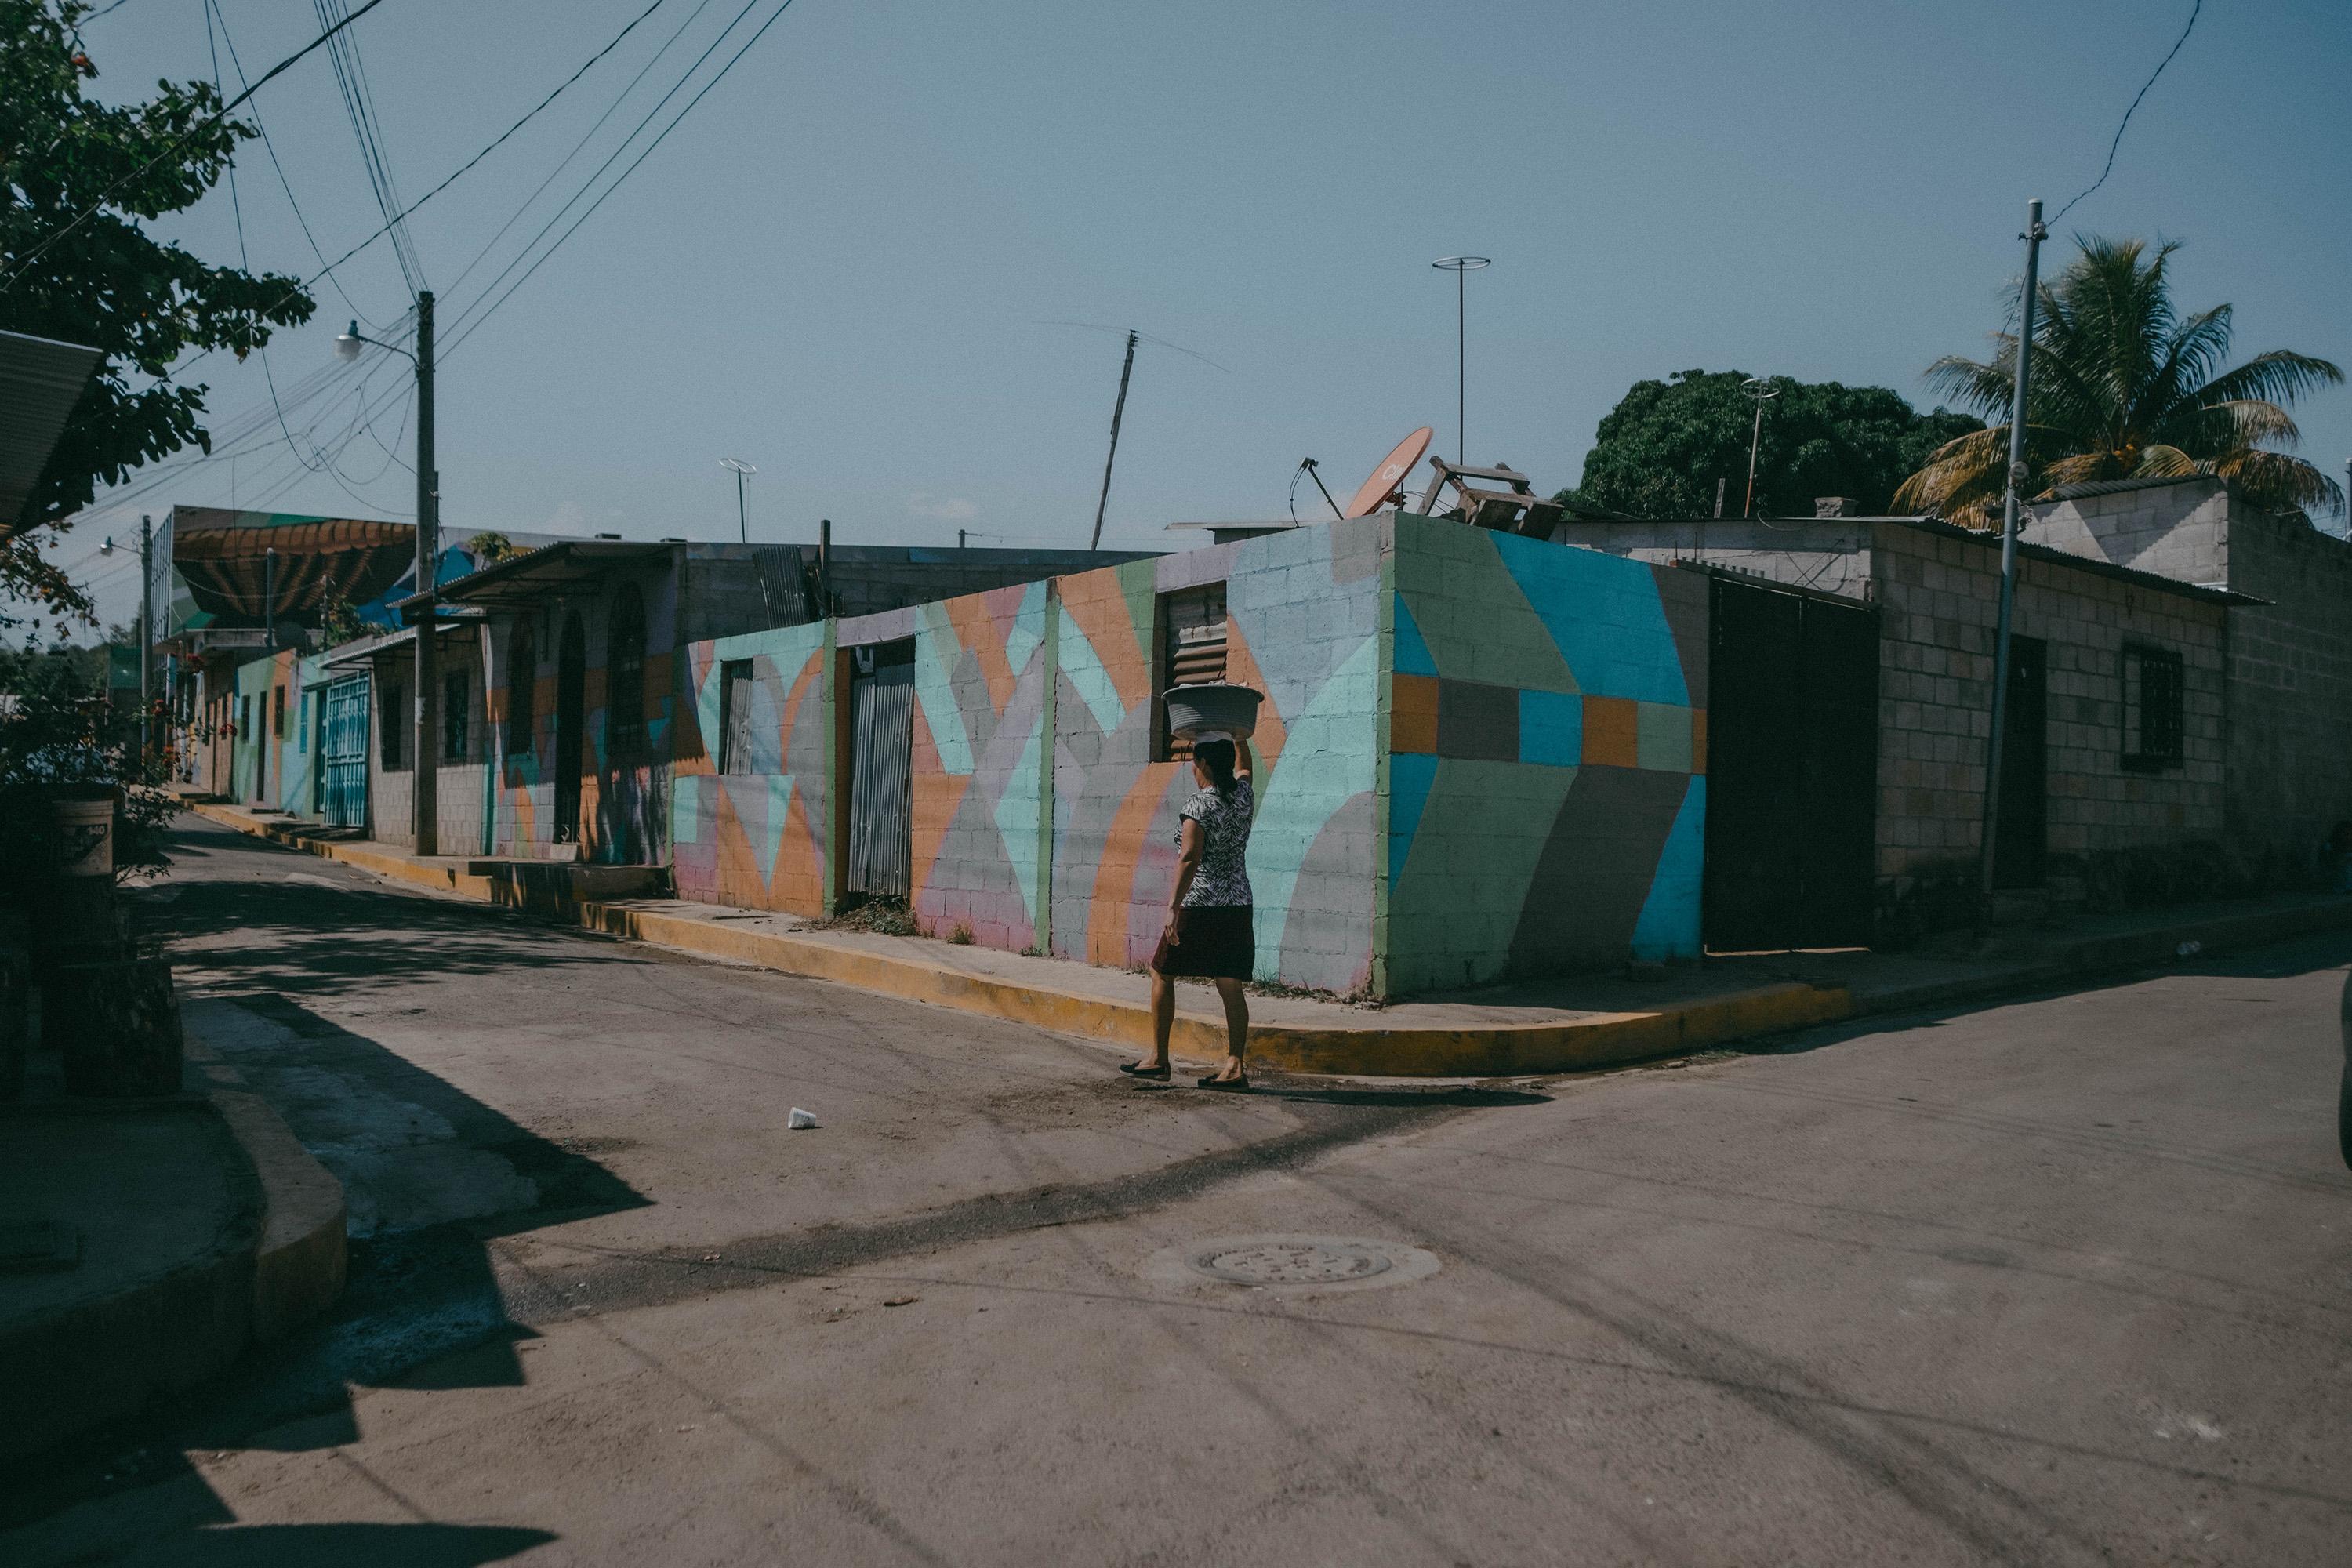
[[[1879, 524], [1879, 889], [1882, 914], [1922, 884], [1973, 875], [1999, 550]], [[2126, 849], [2218, 844], [2223, 832], [2225, 609], [2049, 559], [2018, 562], [2016, 630], [2049, 644], [2049, 853], [2053, 877]], [[2185, 670], [2185, 762], [2129, 773], [2126, 639], [2173, 649]]]

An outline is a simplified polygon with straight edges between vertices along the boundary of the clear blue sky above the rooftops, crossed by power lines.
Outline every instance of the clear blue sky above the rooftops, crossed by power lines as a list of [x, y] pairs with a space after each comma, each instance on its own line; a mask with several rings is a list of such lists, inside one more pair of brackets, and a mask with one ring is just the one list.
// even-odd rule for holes
[[[553, 212], [543, 197], [459, 280], [694, 2], [668, 0], [414, 219], [445, 320]], [[710, 5], [670, 61], [736, 2]], [[642, 5], [386, 0], [355, 24], [402, 193]], [[296, 0], [223, 9], [254, 75], [318, 31]], [[454, 348], [442, 520], [731, 538], [717, 461], [743, 456], [760, 465], [755, 538], [814, 538], [826, 515], [847, 541], [969, 527], [1084, 543], [1120, 339], [1040, 324], [1056, 320], [1134, 324], [1228, 367], [1143, 348], [1110, 536], [1277, 517], [1301, 456], [1341, 489], [1414, 425], [1454, 447], [1454, 280], [1430, 270], [1449, 252], [1494, 256], [1470, 277], [1470, 456], [1543, 489], [1578, 477], [1595, 423], [1644, 376], [1745, 369], [1919, 402], [1936, 355], [1983, 353], [1999, 324], [2025, 197], [2056, 212], [2091, 183], [2185, 19], [2187, 0], [797, 0]], [[202, 0], [127, 0], [87, 42], [108, 94], [212, 71]], [[647, 82], [673, 75], [666, 61]], [[2209, 0], [2112, 179], [2060, 233], [2185, 240], [2176, 299], [2234, 301], [2241, 355], [2352, 364], [2347, 82], [2352, 7]], [[654, 96], [640, 89], [553, 190]], [[325, 54], [259, 108], [341, 254], [379, 219]], [[259, 143], [240, 197], [254, 266], [315, 270]], [[169, 228], [238, 254], [226, 188]], [[407, 306], [383, 244], [343, 282], [376, 320]], [[282, 390], [329, 364], [350, 315], [332, 287], [318, 296], [315, 322], [270, 348]], [[216, 428], [268, 409], [259, 360], [214, 355], [200, 374]], [[350, 407], [315, 437], [346, 433]], [[397, 407], [376, 421], [383, 442], [400, 428]], [[2340, 473], [2352, 393], [2312, 400], [2303, 428], [2305, 456]], [[365, 433], [339, 458], [350, 494], [285, 454], [256, 444], [235, 473], [207, 463], [127, 510], [101, 501], [61, 555], [134, 529], [141, 508], [233, 494], [409, 515], [407, 473]], [[129, 574], [101, 588], [108, 614], [134, 604]]]

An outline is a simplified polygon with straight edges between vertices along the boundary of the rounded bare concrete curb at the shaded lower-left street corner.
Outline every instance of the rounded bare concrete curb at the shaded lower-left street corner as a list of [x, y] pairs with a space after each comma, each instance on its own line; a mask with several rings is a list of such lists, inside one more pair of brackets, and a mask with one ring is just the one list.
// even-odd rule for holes
[[[256, 1095], [214, 1088], [165, 1100], [68, 1100], [12, 1114], [103, 1119], [165, 1112], [214, 1124], [242, 1161], [235, 1213], [214, 1246], [106, 1295], [0, 1324], [0, 1460], [134, 1415], [226, 1371], [343, 1291], [343, 1187]], [[85, 1237], [85, 1248], [103, 1239]]]

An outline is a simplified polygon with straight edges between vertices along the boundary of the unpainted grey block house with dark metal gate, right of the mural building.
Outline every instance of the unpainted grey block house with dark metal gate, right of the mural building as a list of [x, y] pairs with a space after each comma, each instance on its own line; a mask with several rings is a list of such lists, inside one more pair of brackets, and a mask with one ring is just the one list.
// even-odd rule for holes
[[[1566, 522], [1712, 576], [1710, 947], [1900, 940], [1973, 914], [1999, 536], [1924, 517]], [[2218, 891], [2220, 585], [2023, 545], [1994, 886], [2027, 907]]]

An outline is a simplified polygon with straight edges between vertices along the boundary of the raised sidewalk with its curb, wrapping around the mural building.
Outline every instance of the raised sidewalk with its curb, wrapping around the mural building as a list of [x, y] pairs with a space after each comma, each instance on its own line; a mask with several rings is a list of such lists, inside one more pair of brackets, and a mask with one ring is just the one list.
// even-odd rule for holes
[[[191, 802], [200, 816], [374, 872], [407, 886], [489, 903], [499, 863], [419, 858], [365, 839], [238, 806]], [[823, 931], [790, 914], [673, 898], [581, 898], [560, 914], [588, 931], [708, 959], [835, 980], [1042, 1030], [1150, 1044], [1150, 980], [1068, 959], [960, 947], [929, 938]], [[2253, 947], [2352, 926], [2352, 898], [2291, 893], [2131, 914], [2084, 917], [1971, 950], [1917, 954], [1778, 952], [1670, 966], [1665, 978], [1585, 976], [1359, 1006], [1305, 994], [1249, 1001], [1251, 1060], [1291, 1072], [1362, 1077], [1517, 1077], [1677, 1056], [1870, 1013], [1947, 1006], [2063, 985], [2192, 952]], [[1223, 1056], [1223, 1018], [1207, 985], [1178, 992], [1174, 1048]]]

